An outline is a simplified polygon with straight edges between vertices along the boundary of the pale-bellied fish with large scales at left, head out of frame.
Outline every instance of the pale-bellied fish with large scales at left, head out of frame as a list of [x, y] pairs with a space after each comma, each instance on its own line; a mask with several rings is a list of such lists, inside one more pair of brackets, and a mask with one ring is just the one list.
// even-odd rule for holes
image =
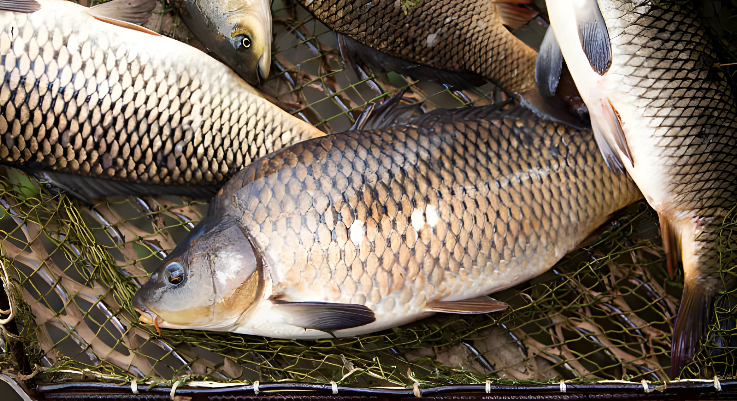
[[0, 1], [1, 164], [85, 199], [211, 198], [256, 158], [324, 136], [198, 49], [122, 21], [119, 1]]

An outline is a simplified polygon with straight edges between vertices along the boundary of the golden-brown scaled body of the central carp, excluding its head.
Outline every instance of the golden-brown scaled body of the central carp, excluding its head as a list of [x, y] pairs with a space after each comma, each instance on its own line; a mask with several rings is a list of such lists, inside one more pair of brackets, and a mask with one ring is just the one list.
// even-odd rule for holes
[[229, 181], [220, 214], [254, 238], [275, 293], [366, 304], [385, 327], [531, 279], [641, 195], [590, 132], [495, 108], [287, 147]]

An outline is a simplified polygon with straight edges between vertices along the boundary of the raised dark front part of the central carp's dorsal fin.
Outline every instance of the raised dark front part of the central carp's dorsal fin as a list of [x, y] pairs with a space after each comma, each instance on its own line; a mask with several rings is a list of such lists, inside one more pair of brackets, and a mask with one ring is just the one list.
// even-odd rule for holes
[[414, 116], [421, 115], [423, 111], [419, 103], [402, 103], [408, 90], [398, 91], [380, 105], [367, 105], [350, 130], [380, 130], [392, 125], [406, 125]]

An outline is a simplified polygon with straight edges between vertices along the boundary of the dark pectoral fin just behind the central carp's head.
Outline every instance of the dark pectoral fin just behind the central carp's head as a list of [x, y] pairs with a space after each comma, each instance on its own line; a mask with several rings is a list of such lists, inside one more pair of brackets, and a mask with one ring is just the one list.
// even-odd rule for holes
[[279, 313], [287, 323], [304, 329], [323, 332], [350, 329], [376, 320], [374, 311], [360, 304], [332, 304], [329, 302], [289, 302], [274, 300]]

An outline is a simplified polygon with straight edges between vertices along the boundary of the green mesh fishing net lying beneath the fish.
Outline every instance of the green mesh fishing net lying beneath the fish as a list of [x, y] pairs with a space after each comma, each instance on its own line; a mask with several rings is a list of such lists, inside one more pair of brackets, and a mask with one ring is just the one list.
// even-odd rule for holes
[[[332, 32], [301, 7], [274, 1], [273, 10], [275, 70], [262, 90], [326, 132], [349, 128], [368, 102], [402, 88], [425, 110], [504, 98], [491, 85], [453, 91], [394, 73], [354, 72], [340, 59]], [[198, 46], [165, 3], [147, 27]], [[532, 21], [518, 33], [539, 43], [542, 32]], [[668, 276], [657, 216], [644, 202], [624, 209], [547, 273], [495, 294], [511, 305], [502, 313], [436, 315], [358, 338], [293, 341], [173, 329], [158, 335], [138, 321], [130, 299], [205, 211], [203, 202], [176, 197], [88, 206], [4, 168], [3, 372], [37, 384], [150, 387], [202, 380], [430, 388], [669, 378], [683, 277]], [[727, 288], [737, 271], [736, 244], [733, 211], [719, 244]], [[705, 346], [684, 376], [735, 376], [736, 295], [717, 296]]]

